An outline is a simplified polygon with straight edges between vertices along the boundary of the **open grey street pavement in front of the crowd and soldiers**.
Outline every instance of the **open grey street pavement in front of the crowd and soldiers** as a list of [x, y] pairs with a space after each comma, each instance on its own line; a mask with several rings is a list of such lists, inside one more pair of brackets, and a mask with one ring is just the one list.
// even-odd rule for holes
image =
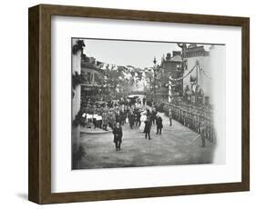
[[151, 140], [145, 139], [138, 127], [131, 130], [125, 124], [121, 151], [118, 152], [112, 133], [81, 133], [80, 143], [87, 154], [80, 162], [80, 169], [212, 163], [214, 144], [206, 142], [206, 147], [201, 147], [197, 133], [174, 120], [169, 126], [169, 118], [164, 114], [160, 116], [163, 119], [162, 134], [156, 134], [153, 124]]

